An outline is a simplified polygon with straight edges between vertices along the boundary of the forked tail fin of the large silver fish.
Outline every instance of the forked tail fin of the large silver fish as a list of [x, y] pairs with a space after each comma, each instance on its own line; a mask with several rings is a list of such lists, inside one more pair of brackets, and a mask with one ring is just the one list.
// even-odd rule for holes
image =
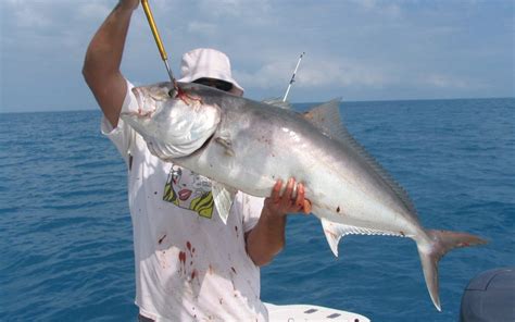
[[438, 294], [438, 262], [453, 248], [482, 245], [487, 244], [487, 240], [466, 233], [449, 231], [426, 231], [426, 233], [430, 243], [423, 243], [423, 245], [417, 243], [418, 255], [420, 256], [424, 278], [432, 304], [438, 311], [441, 311]]

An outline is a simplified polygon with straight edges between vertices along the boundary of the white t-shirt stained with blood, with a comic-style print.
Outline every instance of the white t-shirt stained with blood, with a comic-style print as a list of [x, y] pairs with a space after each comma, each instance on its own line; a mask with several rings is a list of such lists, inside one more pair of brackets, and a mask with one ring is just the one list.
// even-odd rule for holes
[[[127, 84], [122, 110], [136, 111]], [[266, 321], [260, 269], [244, 243], [263, 199], [238, 193], [224, 224], [208, 178], [152, 156], [122, 120], [113, 128], [103, 117], [101, 128], [128, 168], [140, 313], [156, 321]]]

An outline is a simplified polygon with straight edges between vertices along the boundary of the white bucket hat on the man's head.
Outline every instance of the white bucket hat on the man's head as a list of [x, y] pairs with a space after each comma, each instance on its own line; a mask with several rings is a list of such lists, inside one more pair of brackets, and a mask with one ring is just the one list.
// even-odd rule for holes
[[228, 82], [233, 84], [229, 92], [243, 95], [243, 87], [233, 78], [230, 61], [225, 53], [211, 48], [199, 48], [186, 52], [180, 62], [180, 79], [177, 81], [191, 83], [204, 77]]

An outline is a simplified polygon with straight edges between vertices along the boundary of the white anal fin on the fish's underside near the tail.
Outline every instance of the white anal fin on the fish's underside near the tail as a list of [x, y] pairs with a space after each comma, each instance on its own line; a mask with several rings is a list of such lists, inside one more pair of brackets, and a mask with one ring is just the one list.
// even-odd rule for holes
[[347, 236], [347, 235], [382, 235], [382, 236], [400, 236], [400, 237], [404, 236], [402, 234], [395, 234], [395, 233], [387, 232], [387, 231], [339, 224], [324, 218], [321, 219], [321, 221], [322, 221], [322, 228], [324, 230], [324, 234], [326, 235], [326, 238], [327, 238], [327, 243], [329, 244], [330, 250], [332, 250], [332, 253], [336, 257], [338, 257], [338, 243], [340, 242], [341, 237]]

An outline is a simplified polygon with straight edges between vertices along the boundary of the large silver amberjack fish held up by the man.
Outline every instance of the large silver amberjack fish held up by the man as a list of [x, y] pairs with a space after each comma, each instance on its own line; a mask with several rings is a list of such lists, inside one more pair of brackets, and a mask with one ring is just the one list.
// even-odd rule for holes
[[134, 89], [145, 113], [124, 113], [159, 158], [213, 181], [226, 220], [235, 190], [268, 197], [277, 179], [305, 185], [332, 252], [350, 234], [415, 240], [438, 310], [438, 262], [456, 247], [486, 244], [465, 233], [424, 228], [407, 194], [342, 125], [339, 101], [306, 113], [197, 84]]

